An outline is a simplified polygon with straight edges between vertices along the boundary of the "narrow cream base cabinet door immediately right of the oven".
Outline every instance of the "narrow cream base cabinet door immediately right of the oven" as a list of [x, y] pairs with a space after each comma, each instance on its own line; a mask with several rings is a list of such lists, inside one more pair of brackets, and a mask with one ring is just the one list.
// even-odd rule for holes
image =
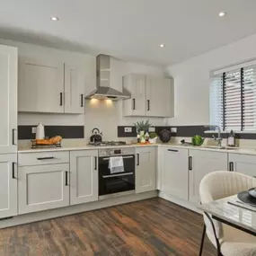
[[156, 190], [156, 150], [146, 146], [136, 149], [136, 192]]

